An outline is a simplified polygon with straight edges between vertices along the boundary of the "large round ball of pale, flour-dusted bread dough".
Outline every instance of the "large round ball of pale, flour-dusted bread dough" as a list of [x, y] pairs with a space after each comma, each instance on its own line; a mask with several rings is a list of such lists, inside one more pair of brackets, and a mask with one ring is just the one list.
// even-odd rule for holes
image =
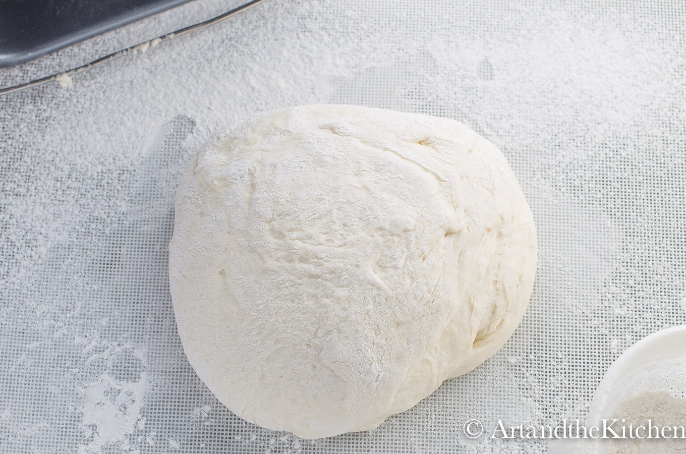
[[499, 150], [457, 121], [301, 106], [229, 130], [176, 195], [188, 359], [235, 414], [321, 438], [377, 427], [521, 321], [536, 232]]

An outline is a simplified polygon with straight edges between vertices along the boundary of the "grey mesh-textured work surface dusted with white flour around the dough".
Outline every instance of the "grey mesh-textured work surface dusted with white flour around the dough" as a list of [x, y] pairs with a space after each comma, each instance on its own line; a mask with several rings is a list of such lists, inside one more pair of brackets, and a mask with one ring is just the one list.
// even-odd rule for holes
[[[239, 2], [196, 0], [21, 67], [63, 71]], [[583, 418], [622, 350], [686, 323], [686, 7], [266, 0], [215, 27], [0, 97], [0, 453], [512, 453], [480, 419]], [[534, 213], [523, 324], [371, 432], [299, 440], [222, 407], [182, 352], [167, 243], [187, 160], [300, 104], [452, 117]]]

